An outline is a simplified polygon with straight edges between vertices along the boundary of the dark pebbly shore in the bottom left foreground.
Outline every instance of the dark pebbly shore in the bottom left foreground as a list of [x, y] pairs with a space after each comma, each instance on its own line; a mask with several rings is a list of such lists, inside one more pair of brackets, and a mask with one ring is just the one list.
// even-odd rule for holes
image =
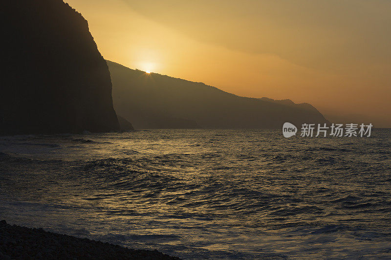
[[156, 250], [134, 250], [101, 241], [80, 239], [9, 225], [0, 221], [0, 259], [145, 259], [179, 260]]

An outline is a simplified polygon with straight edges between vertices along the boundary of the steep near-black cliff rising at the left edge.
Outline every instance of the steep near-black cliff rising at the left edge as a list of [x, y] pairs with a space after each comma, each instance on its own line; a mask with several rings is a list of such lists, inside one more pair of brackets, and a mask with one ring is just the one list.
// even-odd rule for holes
[[0, 134], [118, 130], [106, 61], [62, 0], [1, 3]]

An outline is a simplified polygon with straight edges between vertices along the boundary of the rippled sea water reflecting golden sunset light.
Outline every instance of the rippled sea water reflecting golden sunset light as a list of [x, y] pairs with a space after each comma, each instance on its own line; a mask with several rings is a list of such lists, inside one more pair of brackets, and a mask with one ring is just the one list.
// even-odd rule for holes
[[390, 259], [391, 130], [0, 138], [0, 219], [183, 259]]

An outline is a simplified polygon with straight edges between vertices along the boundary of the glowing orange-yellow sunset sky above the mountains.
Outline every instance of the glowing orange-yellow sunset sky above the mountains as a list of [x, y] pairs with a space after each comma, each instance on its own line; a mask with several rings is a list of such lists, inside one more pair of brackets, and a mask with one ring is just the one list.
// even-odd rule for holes
[[389, 0], [65, 1], [107, 60], [391, 127]]

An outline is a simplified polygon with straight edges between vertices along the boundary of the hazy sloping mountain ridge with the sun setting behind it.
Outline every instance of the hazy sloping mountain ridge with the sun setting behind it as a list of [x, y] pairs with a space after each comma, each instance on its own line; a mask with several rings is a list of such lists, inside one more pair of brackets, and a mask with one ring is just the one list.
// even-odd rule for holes
[[309, 104], [239, 97], [204, 83], [107, 61], [114, 107], [135, 128], [281, 128], [328, 122]]

